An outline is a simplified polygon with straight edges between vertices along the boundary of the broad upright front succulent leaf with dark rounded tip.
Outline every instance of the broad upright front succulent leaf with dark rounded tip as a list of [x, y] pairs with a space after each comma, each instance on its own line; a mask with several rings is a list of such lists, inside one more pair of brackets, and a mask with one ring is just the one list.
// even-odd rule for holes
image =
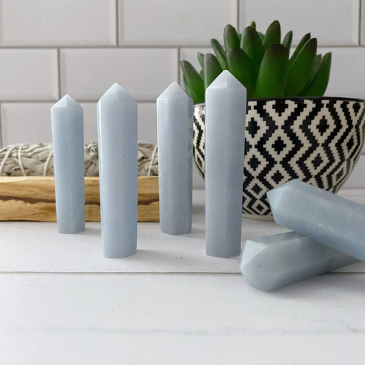
[[270, 45], [257, 75], [255, 97], [282, 97], [288, 78], [289, 58], [284, 45]]

